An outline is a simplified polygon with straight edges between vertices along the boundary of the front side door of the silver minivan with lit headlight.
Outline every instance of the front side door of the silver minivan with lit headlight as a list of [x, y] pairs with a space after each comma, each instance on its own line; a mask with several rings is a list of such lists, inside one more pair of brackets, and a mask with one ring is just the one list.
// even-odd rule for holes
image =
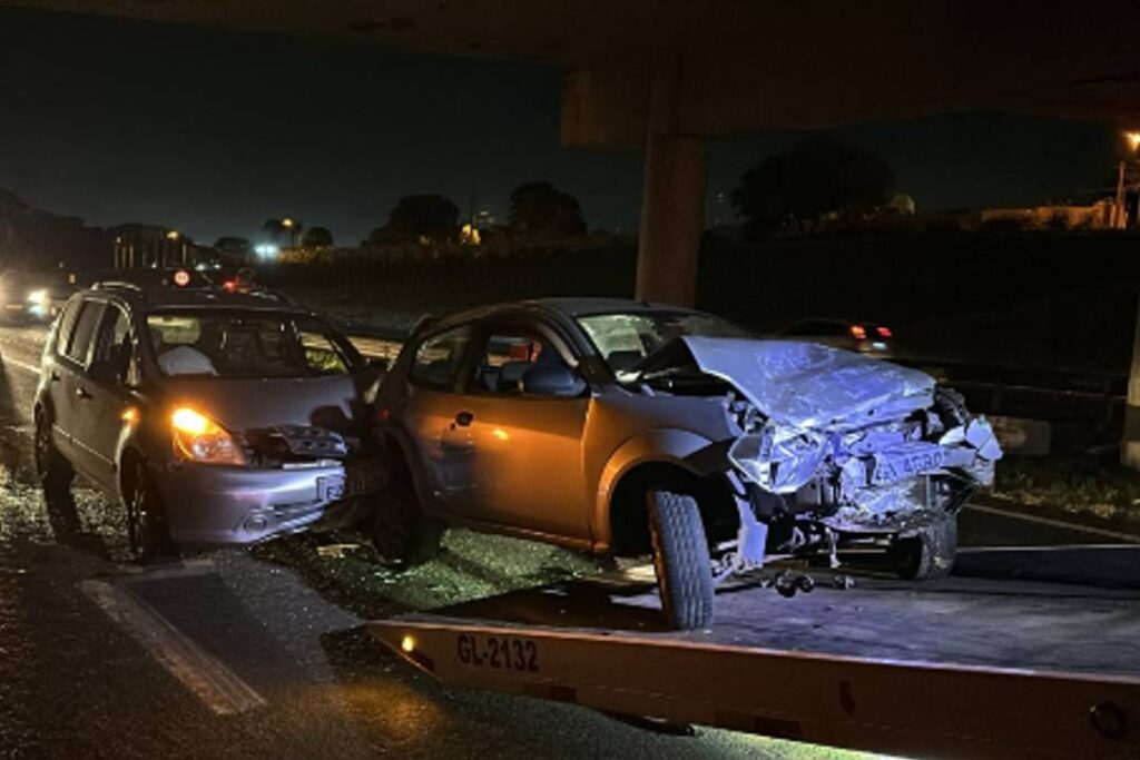
[[131, 406], [130, 368], [135, 354], [133, 332], [125, 309], [104, 307], [91, 351], [76, 393], [81, 408], [74, 438], [82, 449], [88, 476], [114, 490], [123, 412]]

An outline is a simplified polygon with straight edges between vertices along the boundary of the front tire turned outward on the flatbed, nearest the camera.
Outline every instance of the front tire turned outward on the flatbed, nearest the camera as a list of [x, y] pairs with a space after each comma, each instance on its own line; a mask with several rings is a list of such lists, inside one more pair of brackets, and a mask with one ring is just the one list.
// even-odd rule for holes
[[677, 630], [712, 623], [712, 561], [697, 499], [650, 491], [649, 528], [661, 607]]

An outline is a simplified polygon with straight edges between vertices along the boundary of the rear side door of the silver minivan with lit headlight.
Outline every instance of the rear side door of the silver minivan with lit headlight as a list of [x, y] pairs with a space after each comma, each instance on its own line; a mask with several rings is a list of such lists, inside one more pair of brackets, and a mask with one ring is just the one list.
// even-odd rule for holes
[[[76, 438], [83, 415], [90, 411], [87, 390], [88, 357], [91, 340], [103, 317], [101, 301], [83, 299], [71, 324], [60, 325], [60, 336], [52, 374], [49, 378], [57, 438], [64, 443], [64, 456], [83, 474], [90, 474], [91, 458]], [[71, 314], [65, 314], [70, 317]]]

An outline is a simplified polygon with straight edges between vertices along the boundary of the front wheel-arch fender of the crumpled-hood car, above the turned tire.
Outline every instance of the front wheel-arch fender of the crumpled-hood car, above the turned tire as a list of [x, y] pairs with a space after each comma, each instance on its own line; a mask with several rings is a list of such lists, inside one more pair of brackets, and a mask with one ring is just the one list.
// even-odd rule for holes
[[716, 442], [692, 431], [676, 427], [659, 427], [638, 433], [624, 441], [606, 459], [597, 479], [592, 532], [598, 549], [611, 542], [610, 502], [621, 477], [634, 467], [644, 464], [671, 464], [697, 476], [716, 471], [710, 466], [711, 457], [703, 457]]

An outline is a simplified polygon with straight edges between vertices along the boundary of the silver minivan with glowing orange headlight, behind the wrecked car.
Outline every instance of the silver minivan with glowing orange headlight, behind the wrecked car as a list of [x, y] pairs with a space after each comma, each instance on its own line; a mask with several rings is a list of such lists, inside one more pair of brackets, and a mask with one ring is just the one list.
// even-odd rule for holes
[[81, 473], [122, 502], [144, 561], [367, 514], [383, 477], [365, 411], [377, 368], [291, 304], [152, 280], [75, 294], [48, 336], [47, 497]]

